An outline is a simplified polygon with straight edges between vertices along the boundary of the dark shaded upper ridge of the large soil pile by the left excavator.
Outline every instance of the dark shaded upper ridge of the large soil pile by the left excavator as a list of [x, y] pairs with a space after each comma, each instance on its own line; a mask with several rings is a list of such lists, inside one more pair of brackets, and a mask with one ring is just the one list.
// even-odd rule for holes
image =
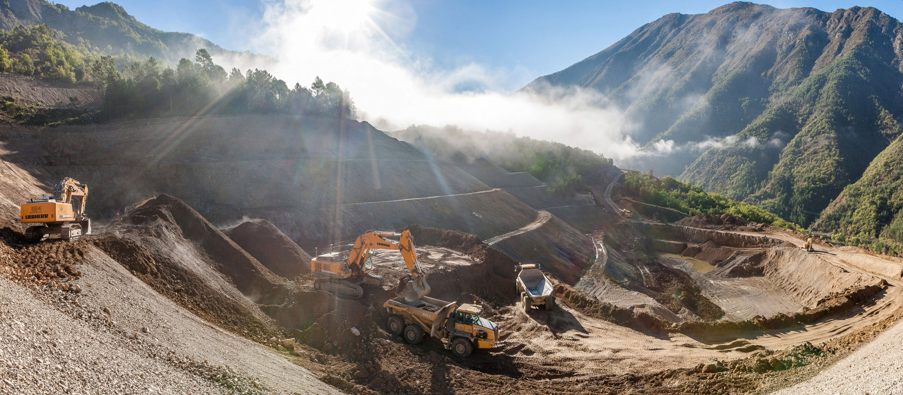
[[[148, 200], [123, 219], [127, 225], [154, 225], [159, 222], [171, 225], [166, 227], [197, 243], [217, 270], [249, 298], [259, 299], [264, 296], [261, 292], [280, 288], [288, 282], [276, 276], [178, 198], [162, 194]], [[278, 290], [276, 293], [279, 293]]]

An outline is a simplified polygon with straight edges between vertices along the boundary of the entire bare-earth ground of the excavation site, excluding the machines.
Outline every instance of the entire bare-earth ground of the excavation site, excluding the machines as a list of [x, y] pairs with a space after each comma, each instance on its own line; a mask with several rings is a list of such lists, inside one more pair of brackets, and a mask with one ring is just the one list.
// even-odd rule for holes
[[[903, 342], [897, 258], [806, 253], [802, 234], [731, 218], [619, 216], [616, 175], [556, 204], [526, 173], [433, 162], [368, 124], [340, 144], [336, 127], [274, 115], [0, 129], [0, 392], [901, 390], [870, 380], [898, 375], [884, 345]], [[16, 208], [70, 172], [107, 216], [71, 243], [23, 243]], [[484, 306], [495, 347], [461, 360], [389, 335], [397, 253], [375, 254], [385, 285], [363, 299], [312, 289], [312, 253], [405, 226], [430, 297]], [[543, 265], [557, 308], [523, 311], [517, 262]], [[891, 351], [864, 354], [875, 347]]]

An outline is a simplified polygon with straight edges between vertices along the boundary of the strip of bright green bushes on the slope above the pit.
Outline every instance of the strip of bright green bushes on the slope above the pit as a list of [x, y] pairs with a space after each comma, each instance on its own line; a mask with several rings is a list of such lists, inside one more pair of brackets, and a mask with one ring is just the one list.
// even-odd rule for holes
[[708, 214], [720, 216], [730, 214], [742, 216], [747, 221], [775, 225], [803, 231], [799, 225], [790, 223], [774, 214], [748, 203], [738, 202], [703, 188], [681, 182], [671, 176], [656, 179], [646, 174], [630, 172], [624, 176], [624, 192], [639, 201], [661, 207], [673, 208], [691, 216]]

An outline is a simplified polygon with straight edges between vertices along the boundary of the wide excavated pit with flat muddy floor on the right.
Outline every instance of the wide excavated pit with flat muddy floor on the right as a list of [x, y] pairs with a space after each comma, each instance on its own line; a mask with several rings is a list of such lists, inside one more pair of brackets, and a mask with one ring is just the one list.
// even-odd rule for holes
[[681, 224], [707, 228], [633, 223], [600, 234], [606, 253], [577, 288], [677, 332], [717, 339], [815, 324], [880, 298], [888, 286], [833, 262], [833, 253], [806, 253], [776, 237], [785, 233], [742, 218]]

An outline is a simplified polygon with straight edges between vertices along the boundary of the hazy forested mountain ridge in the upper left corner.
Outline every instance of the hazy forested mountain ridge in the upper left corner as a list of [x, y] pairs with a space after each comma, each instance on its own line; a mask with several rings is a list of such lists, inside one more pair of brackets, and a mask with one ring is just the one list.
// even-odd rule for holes
[[18, 24], [47, 24], [63, 32], [64, 41], [84, 45], [90, 51], [114, 56], [131, 55], [135, 60], [154, 57], [173, 66], [182, 58], [193, 58], [195, 51], [201, 48], [219, 60], [227, 57], [235, 62], [240, 60], [241, 64], [230, 62], [228, 66], [243, 69], [252, 66], [265, 69], [275, 61], [249, 51], [228, 51], [191, 33], [156, 30], [138, 22], [123, 7], [109, 2], [75, 10], [46, 0], [0, 2], [0, 29], [10, 31]]

